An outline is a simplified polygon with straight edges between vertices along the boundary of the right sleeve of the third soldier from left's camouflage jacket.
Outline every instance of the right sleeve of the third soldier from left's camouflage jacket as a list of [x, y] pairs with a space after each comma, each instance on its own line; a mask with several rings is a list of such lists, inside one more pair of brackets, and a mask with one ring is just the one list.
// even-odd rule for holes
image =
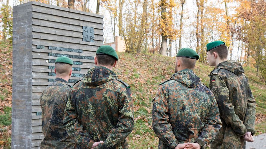
[[202, 128], [198, 139], [195, 141], [200, 144], [202, 148], [205, 148], [207, 145], [213, 142], [216, 134], [222, 127], [218, 105], [213, 95], [212, 98], [213, 102], [204, 121], [204, 127]]

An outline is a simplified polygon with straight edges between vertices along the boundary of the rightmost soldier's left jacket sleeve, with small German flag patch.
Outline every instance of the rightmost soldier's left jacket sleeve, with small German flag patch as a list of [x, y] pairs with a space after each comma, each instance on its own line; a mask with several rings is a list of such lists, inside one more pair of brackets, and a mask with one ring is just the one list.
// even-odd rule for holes
[[229, 100], [229, 90], [226, 84], [218, 75], [212, 75], [212, 80], [215, 80], [212, 83], [212, 91], [220, 110], [220, 117], [233, 128], [237, 135], [244, 136], [247, 131], [246, 126], [235, 114], [235, 108]]

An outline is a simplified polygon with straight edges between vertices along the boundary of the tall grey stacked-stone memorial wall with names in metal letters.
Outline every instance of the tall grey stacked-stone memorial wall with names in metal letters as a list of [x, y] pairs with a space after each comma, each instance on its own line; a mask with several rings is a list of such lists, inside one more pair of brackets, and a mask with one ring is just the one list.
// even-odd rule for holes
[[[83, 27], [94, 29], [94, 42], [82, 41]], [[55, 78], [57, 56], [74, 55], [70, 81], [74, 82], [94, 66], [101, 45], [102, 15], [34, 1], [13, 7], [11, 148], [40, 148], [43, 134], [39, 98]]]

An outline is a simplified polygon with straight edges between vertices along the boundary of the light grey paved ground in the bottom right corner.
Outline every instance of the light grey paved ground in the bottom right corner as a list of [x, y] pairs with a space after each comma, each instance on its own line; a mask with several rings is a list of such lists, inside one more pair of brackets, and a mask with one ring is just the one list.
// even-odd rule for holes
[[254, 142], [246, 142], [246, 149], [250, 148], [266, 149], [266, 134], [254, 136]]

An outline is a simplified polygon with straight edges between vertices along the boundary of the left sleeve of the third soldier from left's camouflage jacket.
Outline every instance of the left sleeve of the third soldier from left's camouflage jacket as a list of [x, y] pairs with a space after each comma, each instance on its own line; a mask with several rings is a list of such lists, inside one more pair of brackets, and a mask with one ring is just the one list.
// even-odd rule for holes
[[153, 101], [152, 128], [164, 144], [169, 148], [174, 148], [178, 145], [178, 141], [175, 139], [175, 134], [173, 134], [172, 126], [169, 123], [168, 112], [168, 95], [164, 87], [160, 85]]

